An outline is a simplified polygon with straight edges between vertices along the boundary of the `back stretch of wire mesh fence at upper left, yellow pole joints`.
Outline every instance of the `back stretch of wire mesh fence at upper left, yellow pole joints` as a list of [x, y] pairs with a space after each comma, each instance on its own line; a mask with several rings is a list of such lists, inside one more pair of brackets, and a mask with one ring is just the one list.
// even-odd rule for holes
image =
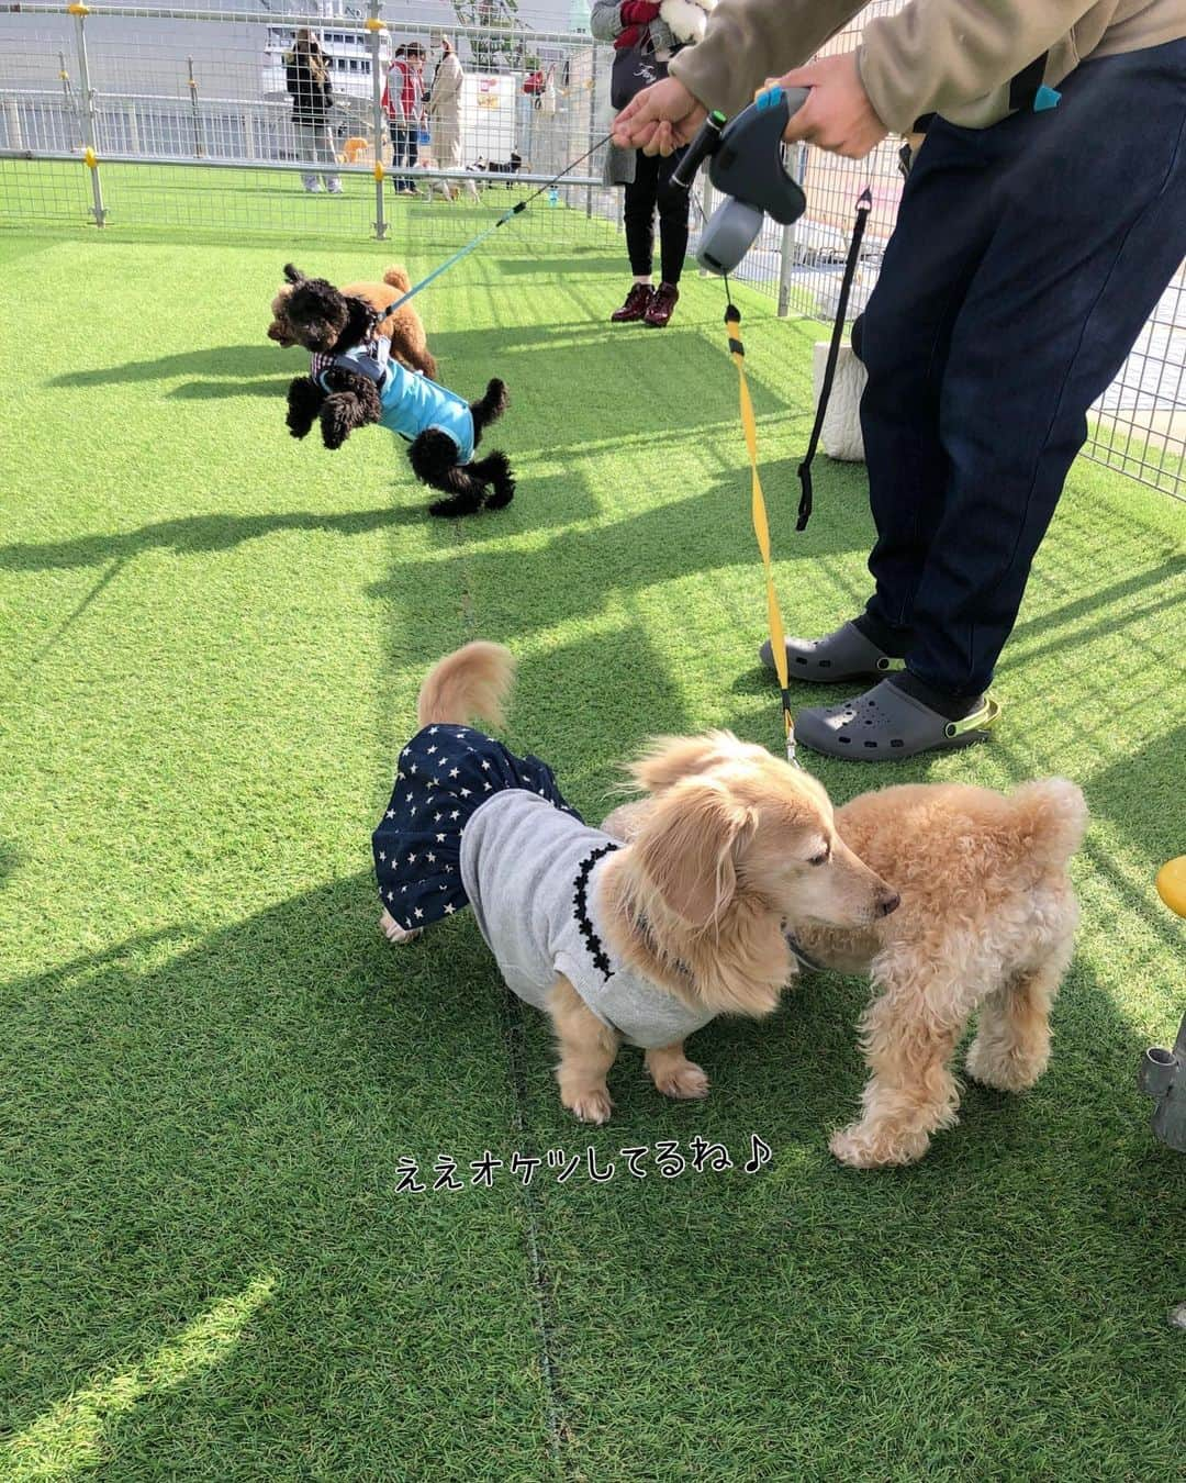
[[[0, 7], [0, 217], [350, 237], [397, 224], [403, 243], [427, 246], [455, 240], [464, 212], [506, 211], [581, 160], [520, 242], [614, 230], [594, 211], [602, 58], [589, 36], [385, 22], [380, 0], [362, 13], [334, 13], [337, 0], [308, 9]], [[301, 28], [328, 68], [325, 129], [294, 119]], [[417, 43], [431, 101], [442, 34], [463, 62], [455, 107], [393, 120], [391, 62]], [[446, 136], [460, 159], [437, 148]]]

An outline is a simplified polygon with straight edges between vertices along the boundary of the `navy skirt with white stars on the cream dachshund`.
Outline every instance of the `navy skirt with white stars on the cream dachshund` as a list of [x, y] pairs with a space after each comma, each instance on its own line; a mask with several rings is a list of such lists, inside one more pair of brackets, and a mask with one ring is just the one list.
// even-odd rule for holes
[[371, 836], [380, 900], [397, 922], [428, 927], [468, 905], [461, 832], [486, 799], [508, 787], [538, 793], [584, 823], [538, 756], [514, 756], [471, 727], [437, 724], [412, 737]]

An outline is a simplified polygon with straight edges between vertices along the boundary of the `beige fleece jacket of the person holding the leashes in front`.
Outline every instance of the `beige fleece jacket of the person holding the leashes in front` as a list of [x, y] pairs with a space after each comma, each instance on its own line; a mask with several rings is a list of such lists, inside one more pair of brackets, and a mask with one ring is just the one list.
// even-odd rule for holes
[[[672, 74], [732, 116], [766, 77], [801, 67], [864, 6], [852, 0], [720, 0], [704, 40]], [[1186, 0], [910, 0], [870, 21], [860, 44], [869, 101], [894, 133], [940, 113], [987, 128], [1010, 111], [1011, 79], [1050, 52], [1051, 87], [1085, 56], [1161, 46], [1186, 36]]]

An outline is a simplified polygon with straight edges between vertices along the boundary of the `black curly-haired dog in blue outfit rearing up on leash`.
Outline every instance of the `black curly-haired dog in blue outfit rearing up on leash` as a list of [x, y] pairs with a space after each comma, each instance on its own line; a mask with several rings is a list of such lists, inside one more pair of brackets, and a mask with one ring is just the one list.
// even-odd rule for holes
[[354, 429], [381, 423], [409, 445], [417, 479], [445, 495], [428, 506], [431, 515], [474, 515], [510, 504], [514, 478], [507, 455], [495, 451], [474, 460], [483, 429], [506, 411], [503, 381], [489, 381], [477, 402], [466, 402], [391, 359], [371, 304], [325, 279], [305, 277], [292, 264], [285, 273], [294, 285], [286, 320], [311, 356], [310, 374], [296, 377], [288, 390], [292, 436], [305, 437], [320, 421], [322, 440], [334, 449]]

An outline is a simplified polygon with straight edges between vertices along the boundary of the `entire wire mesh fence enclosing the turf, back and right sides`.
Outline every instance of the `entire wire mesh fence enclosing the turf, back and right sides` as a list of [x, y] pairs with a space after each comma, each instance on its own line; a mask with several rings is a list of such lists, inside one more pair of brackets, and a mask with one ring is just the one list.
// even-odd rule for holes
[[[526, 30], [511, 10], [498, 25], [439, 28], [384, 21], [381, 0], [369, 0], [365, 15], [342, 13], [342, 0], [291, 3], [308, 13], [0, 4], [0, 221], [289, 239], [393, 234], [402, 245], [433, 246], [477, 231], [580, 160], [504, 245], [544, 252], [618, 230], [621, 194], [600, 184], [609, 52], [587, 34]], [[903, 3], [876, 0], [826, 50], [849, 49], [867, 19]], [[294, 126], [285, 58], [301, 27], [319, 34], [329, 62], [332, 160], [304, 157]], [[397, 169], [382, 102], [388, 68], [400, 47], [418, 42], [431, 83], [442, 30], [466, 73], [461, 166], [436, 157], [428, 120], [417, 129], [415, 166], [405, 150]], [[789, 163], [805, 184], [808, 212], [789, 228], [768, 222], [735, 276], [775, 297], [783, 314], [829, 320], [855, 202], [869, 187], [873, 211], [849, 305], [858, 313], [901, 196], [897, 151], [887, 142], [851, 162], [796, 150]], [[341, 193], [326, 188], [331, 179]], [[695, 190], [692, 249], [713, 194], [707, 184]], [[1096, 408], [1087, 451], [1186, 498], [1183, 365], [1186, 273]]]

